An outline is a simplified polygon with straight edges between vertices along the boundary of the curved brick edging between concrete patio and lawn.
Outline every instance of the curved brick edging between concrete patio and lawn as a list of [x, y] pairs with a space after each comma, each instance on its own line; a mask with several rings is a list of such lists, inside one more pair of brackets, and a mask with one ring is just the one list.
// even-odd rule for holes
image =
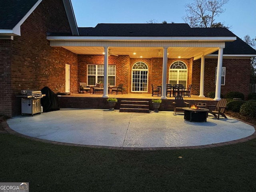
[[213, 148], [213, 147], [219, 147], [219, 146], [225, 146], [225, 145], [232, 145], [232, 144], [237, 144], [237, 143], [242, 143], [246, 142], [252, 139], [256, 138], [256, 126], [253, 124], [250, 124], [248, 122], [242, 121], [240, 119], [237, 119], [241, 122], [244, 122], [246, 124], [249, 124], [254, 127], [254, 133], [248, 137], [241, 138], [238, 140], [233, 140], [233, 141], [228, 141], [228, 142], [222, 142], [222, 143], [216, 143], [216, 144], [209, 144], [209, 145], [200, 145], [200, 146], [185, 146], [185, 147], [145, 147], [145, 148], [139, 148], [139, 147], [110, 147], [110, 146], [98, 146], [98, 145], [84, 145], [84, 144], [72, 144], [72, 143], [65, 143], [65, 142], [58, 142], [58, 141], [50, 141], [50, 140], [44, 140], [44, 139], [39, 139], [39, 138], [34, 138], [30, 136], [26, 136], [23, 134], [20, 134], [14, 130], [12, 130], [6, 120], [0, 122], [2, 125], [2, 128], [4, 130], [0, 131], [0, 134], [14, 134], [17, 136], [20, 136], [22, 138], [27, 138], [30, 140], [34, 141], [39, 141], [39, 142], [45, 142], [45, 143], [50, 143], [50, 144], [57, 144], [57, 145], [65, 145], [65, 146], [76, 146], [76, 147], [88, 147], [88, 148], [101, 148], [101, 149], [113, 149], [113, 150], [136, 150], [136, 151], [146, 151], [146, 150], [180, 150], [180, 149], [206, 149], [206, 148]]

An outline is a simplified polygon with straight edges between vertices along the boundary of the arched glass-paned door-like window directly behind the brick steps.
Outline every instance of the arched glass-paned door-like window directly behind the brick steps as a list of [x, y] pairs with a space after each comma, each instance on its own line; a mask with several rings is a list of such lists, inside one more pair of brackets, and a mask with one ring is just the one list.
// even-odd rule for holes
[[148, 92], [148, 66], [144, 62], [132, 66], [132, 92]]

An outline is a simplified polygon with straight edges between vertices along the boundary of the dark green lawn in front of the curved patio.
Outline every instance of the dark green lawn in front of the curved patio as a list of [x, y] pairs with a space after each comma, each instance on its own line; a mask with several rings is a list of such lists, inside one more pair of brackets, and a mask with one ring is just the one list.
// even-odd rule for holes
[[0, 182], [29, 182], [30, 192], [256, 191], [256, 139], [208, 149], [125, 151], [0, 134], [0, 154]]

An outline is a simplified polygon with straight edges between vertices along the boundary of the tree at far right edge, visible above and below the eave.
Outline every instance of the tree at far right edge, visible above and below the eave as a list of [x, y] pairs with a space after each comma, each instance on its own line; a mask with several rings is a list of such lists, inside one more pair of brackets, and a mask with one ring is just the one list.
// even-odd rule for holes
[[[244, 36], [244, 42], [246, 42], [248, 45], [256, 50], [256, 37], [251, 38], [249, 35], [246, 35]], [[251, 58], [250, 83], [256, 83], [256, 57]]]

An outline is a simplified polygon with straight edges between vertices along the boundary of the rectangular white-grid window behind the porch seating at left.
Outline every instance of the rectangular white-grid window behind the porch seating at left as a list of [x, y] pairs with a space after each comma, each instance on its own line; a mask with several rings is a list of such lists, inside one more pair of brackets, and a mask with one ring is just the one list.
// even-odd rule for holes
[[[96, 85], [98, 82], [104, 83], [104, 65], [87, 65], [88, 85]], [[108, 83], [116, 85], [116, 66], [108, 65]]]

